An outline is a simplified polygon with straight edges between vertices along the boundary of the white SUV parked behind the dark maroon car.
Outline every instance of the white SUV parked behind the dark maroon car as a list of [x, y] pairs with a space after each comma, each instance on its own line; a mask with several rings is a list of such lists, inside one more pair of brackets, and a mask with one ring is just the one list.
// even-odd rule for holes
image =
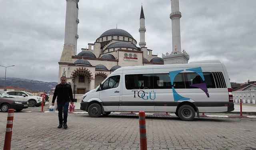
[[[17, 99], [27, 100], [29, 102], [29, 105], [28, 105], [29, 107], [34, 107], [34, 106], [39, 107], [42, 104], [42, 97], [34, 96], [31, 93], [26, 91], [7, 91], [6, 93]], [[45, 104], [45, 101], [44, 101], [44, 104]]]

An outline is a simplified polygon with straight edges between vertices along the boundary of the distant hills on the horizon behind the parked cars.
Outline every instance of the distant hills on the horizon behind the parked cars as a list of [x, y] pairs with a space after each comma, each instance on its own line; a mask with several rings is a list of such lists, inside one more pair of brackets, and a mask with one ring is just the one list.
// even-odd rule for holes
[[[50, 91], [58, 82], [44, 82], [38, 80], [30, 80], [24, 78], [6, 78], [6, 86], [17, 86], [32, 91], [43, 90]], [[4, 87], [4, 78], [0, 77], [0, 87]]]

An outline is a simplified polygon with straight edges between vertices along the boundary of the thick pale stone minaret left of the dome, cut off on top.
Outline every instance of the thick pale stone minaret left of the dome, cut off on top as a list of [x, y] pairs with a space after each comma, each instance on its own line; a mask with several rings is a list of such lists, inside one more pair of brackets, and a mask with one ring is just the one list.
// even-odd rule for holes
[[79, 23], [78, 2], [79, 0], [66, 0], [65, 38], [60, 62], [72, 62], [72, 56], [76, 55]]

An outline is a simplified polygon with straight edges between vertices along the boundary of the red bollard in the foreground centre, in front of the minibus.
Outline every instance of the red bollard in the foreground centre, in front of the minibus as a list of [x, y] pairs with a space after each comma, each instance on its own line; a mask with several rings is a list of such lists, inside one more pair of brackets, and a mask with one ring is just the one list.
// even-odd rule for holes
[[147, 134], [146, 134], [146, 119], [145, 112], [139, 112], [140, 123], [140, 150], [147, 150]]

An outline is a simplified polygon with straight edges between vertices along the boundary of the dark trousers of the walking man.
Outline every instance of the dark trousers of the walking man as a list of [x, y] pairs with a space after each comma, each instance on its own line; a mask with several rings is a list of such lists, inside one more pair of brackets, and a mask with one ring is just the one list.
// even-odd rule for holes
[[[69, 102], [58, 103], [58, 116], [60, 124], [66, 124], [68, 118], [68, 106]], [[62, 117], [63, 112], [63, 117]]]

